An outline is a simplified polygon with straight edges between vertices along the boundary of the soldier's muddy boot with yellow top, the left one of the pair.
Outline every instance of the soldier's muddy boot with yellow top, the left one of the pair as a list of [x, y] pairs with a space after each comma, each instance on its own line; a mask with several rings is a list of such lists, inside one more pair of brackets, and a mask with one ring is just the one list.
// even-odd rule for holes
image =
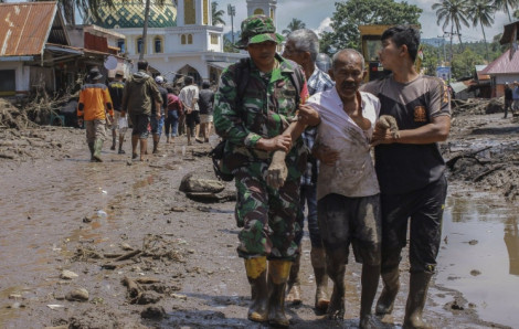
[[268, 320], [267, 258], [245, 259], [245, 269], [252, 296], [247, 318], [251, 321], [264, 322]]

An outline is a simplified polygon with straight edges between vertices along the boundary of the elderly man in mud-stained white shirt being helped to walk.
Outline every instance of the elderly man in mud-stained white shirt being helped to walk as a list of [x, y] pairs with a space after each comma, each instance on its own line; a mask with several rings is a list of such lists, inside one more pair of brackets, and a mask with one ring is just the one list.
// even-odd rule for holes
[[321, 161], [317, 179], [317, 213], [333, 282], [328, 307], [331, 319], [345, 316], [345, 273], [350, 243], [362, 262], [360, 328], [377, 326], [371, 308], [380, 275], [380, 190], [370, 153], [370, 139], [380, 112], [372, 94], [359, 92], [364, 60], [354, 50], [332, 59], [336, 87], [308, 99], [320, 117], [314, 155]]

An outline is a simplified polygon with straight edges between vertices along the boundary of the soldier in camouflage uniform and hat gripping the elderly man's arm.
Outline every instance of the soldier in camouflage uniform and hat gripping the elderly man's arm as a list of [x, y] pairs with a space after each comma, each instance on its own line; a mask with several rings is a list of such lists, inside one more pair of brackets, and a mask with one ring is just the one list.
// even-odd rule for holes
[[[248, 319], [287, 327], [285, 287], [297, 255], [294, 237], [300, 227], [296, 214], [307, 151], [300, 138], [296, 140], [285, 130], [296, 115], [297, 99], [306, 99], [308, 92], [301, 68], [276, 54], [280, 41], [283, 36], [265, 15], [242, 22], [236, 46], [246, 49], [251, 60], [222, 73], [214, 99], [214, 127], [226, 139], [223, 167], [234, 174], [237, 190], [235, 216], [242, 227], [237, 253], [245, 259], [252, 290]], [[248, 65], [246, 82], [236, 81], [240, 65]], [[303, 86], [299, 96], [292, 82], [296, 70]], [[244, 95], [237, 95], [241, 83], [246, 83]], [[279, 188], [267, 183], [275, 151], [286, 152], [287, 174]]]

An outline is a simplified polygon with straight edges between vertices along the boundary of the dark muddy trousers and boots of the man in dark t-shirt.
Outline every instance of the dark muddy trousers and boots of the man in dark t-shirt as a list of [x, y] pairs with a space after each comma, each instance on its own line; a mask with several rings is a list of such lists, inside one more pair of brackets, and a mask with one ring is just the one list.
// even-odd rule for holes
[[[447, 181], [445, 177], [410, 193], [381, 194], [381, 276], [384, 287], [377, 303], [377, 314], [384, 315], [393, 310], [394, 299], [400, 288], [401, 252], [406, 245], [406, 232], [410, 223], [410, 272], [413, 283], [410, 284], [409, 307], [406, 307], [409, 311], [406, 311], [404, 322], [422, 323], [428, 282], [436, 268], [446, 195]], [[416, 320], [410, 322], [412, 318], [416, 318]]]

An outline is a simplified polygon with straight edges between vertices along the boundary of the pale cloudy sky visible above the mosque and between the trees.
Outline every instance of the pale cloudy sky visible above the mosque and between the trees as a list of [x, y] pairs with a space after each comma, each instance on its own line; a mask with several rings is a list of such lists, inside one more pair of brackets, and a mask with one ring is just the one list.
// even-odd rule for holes
[[[240, 30], [240, 22], [246, 17], [246, 1], [245, 0], [215, 0], [219, 3], [219, 9], [225, 10], [226, 26], [224, 31], [231, 31], [231, 20], [226, 14], [227, 4], [231, 3], [236, 8], [236, 17], [234, 18], [234, 31]], [[400, 0], [396, 0], [400, 2]], [[441, 26], [436, 25], [436, 14], [431, 9], [433, 3], [438, 2], [434, 0], [407, 0], [407, 3], [415, 4], [423, 9], [420, 23], [422, 24], [422, 38], [436, 38], [443, 35]], [[330, 18], [335, 11], [335, 3], [338, 0], [278, 0], [277, 1], [277, 26], [278, 30], [286, 29], [287, 24], [293, 18], [301, 20], [308, 29], [316, 32], [322, 31], [329, 25]], [[502, 32], [504, 24], [508, 24], [508, 17], [505, 13], [498, 12], [495, 17], [495, 24], [492, 28], [485, 28], [487, 40], [491, 40], [494, 35]], [[426, 26], [426, 29], [424, 28]], [[463, 41], [478, 41], [483, 40], [481, 29], [465, 28], [462, 30]]]

